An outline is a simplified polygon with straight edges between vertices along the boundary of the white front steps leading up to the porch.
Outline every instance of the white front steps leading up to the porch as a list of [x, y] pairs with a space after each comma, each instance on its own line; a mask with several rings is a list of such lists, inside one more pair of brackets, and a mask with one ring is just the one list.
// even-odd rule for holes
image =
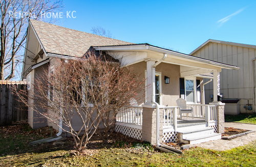
[[178, 130], [178, 139], [180, 142], [185, 144], [199, 144], [203, 142], [208, 142], [212, 140], [217, 140], [221, 138], [220, 133], [214, 133], [214, 128], [211, 127], [201, 127], [195, 128], [192, 126], [186, 130]]

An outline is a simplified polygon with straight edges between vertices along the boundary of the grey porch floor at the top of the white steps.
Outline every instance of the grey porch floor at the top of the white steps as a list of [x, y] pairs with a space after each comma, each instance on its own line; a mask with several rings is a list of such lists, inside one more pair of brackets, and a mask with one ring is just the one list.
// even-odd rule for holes
[[192, 118], [192, 117], [182, 117], [182, 119], [177, 119], [177, 126], [178, 127], [184, 127], [184, 126], [193, 126], [193, 125], [201, 125], [201, 124], [207, 124], [205, 122], [205, 118]]

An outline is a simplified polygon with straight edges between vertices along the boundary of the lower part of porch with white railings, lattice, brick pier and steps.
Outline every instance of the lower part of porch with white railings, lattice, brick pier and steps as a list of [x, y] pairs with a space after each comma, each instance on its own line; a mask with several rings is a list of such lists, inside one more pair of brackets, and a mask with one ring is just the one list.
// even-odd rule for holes
[[183, 114], [180, 119], [178, 107], [160, 108], [158, 126], [156, 109], [152, 114], [148, 113], [148, 108], [141, 106], [122, 109], [117, 115], [115, 130], [138, 140], [148, 141], [148, 138], [152, 138], [152, 141], [159, 143], [179, 141], [198, 144], [221, 138], [218, 133], [217, 105], [194, 104], [193, 108], [194, 119], [191, 114]]

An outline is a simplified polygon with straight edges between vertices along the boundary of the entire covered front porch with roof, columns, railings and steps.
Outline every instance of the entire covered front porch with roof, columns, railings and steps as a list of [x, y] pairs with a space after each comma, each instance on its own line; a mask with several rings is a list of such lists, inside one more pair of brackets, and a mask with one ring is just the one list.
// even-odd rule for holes
[[[201, 137], [200, 142], [207, 135], [211, 137], [207, 140], [220, 138], [220, 134], [212, 137], [215, 132], [224, 132], [224, 104], [218, 101], [220, 72], [223, 68], [237, 70], [238, 67], [150, 44], [100, 46], [95, 50], [108, 51], [122, 58], [126, 66], [142, 74], [139, 79], [146, 81], [145, 101], [120, 111], [116, 131], [157, 145], [193, 139], [193, 136]], [[212, 82], [204, 82], [204, 78]], [[213, 102], [206, 105], [204, 86], [209, 85], [213, 85]], [[190, 120], [191, 114], [188, 119], [185, 115], [179, 119], [176, 102], [179, 98], [193, 106], [194, 120]]]

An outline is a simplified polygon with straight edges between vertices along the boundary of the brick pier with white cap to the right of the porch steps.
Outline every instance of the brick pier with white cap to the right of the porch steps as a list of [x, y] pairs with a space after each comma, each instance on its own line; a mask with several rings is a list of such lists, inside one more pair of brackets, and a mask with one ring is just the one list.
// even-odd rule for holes
[[217, 105], [216, 109], [217, 109], [217, 125], [218, 125], [218, 133], [224, 133], [225, 132], [225, 128], [224, 128], [224, 124], [225, 124], [225, 118], [224, 118], [224, 106], [225, 103], [222, 102], [212, 102], [209, 103], [210, 105]]

